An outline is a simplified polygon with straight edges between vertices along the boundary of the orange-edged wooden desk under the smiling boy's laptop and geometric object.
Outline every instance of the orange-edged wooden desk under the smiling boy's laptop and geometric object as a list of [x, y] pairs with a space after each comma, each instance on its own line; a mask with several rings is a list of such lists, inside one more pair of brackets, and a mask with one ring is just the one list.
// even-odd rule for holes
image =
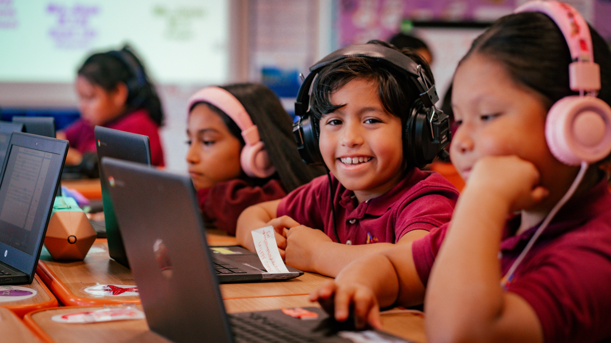
[[[209, 240], [211, 245], [227, 245], [219, 243], [235, 242], [235, 237], [211, 233]], [[43, 249], [37, 272], [53, 294], [67, 306], [140, 303], [139, 297], [98, 297], [82, 291], [84, 287], [95, 284], [136, 284], [131, 270], [109, 258], [106, 239], [95, 240], [83, 261], [54, 261], [48, 251]], [[291, 280], [221, 284], [221, 293], [223, 298], [228, 299], [305, 295], [330, 279], [315, 273], [305, 273]]]

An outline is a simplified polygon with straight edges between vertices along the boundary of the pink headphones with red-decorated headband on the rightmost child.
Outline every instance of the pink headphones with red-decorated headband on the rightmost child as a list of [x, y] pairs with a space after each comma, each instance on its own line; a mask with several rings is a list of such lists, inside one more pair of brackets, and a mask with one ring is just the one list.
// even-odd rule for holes
[[600, 67], [594, 62], [590, 29], [584, 18], [560, 1], [535, 0], [514, 11], [541, 12], [562, 31], [573, 63], [569, 64], [571, 90], [579, 95], [565, 96], [549, 109], [545, 137], [558, 161], [568, 165], [600, 161], [611, 152], [611, 107], [599, 98]]

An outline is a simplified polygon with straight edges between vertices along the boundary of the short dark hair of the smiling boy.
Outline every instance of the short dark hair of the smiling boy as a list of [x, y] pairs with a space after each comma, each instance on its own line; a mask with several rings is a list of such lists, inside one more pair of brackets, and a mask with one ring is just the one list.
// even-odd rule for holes
[[[381, 40], [371, 40], [368, 44], [378, 44], [387, 48], [402, 52], [405, 56], [414, 60], [422, 66], [423, 71], [431, 82], [435, 82], [431, 67], [426, 60], [414, 49], [404, 48], [399, 50], [389, 43]], [[378, 96], [384, 109], [392, 115], [401, 118], [403, 128], [408, 120], [409, 110], [419, 96], [419, 90], [414, 81], [406, 76], [404, 71], [388, 68], [381, 63], [368, 57], [346, 57], [324, 67], [313, 82], [312, 98], [310, 104], [316, 120], [323, 115], [345, 106], [345, 104], [334, 105], [329, 97], [339, 88], [342, 88], [353, 79], [366, 79], [378, 84]]]

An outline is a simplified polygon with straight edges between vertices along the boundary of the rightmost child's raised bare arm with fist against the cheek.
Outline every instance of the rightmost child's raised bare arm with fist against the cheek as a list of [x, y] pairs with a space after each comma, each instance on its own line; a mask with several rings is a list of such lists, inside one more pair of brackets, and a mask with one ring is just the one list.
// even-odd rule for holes
[[508, 214], [546, 196], [539, 177], [534, 165], [516, 156], [475, 164], [428, 282], [431, 342], [543, 342], [533, 308], [499, 286], [498, 257]]

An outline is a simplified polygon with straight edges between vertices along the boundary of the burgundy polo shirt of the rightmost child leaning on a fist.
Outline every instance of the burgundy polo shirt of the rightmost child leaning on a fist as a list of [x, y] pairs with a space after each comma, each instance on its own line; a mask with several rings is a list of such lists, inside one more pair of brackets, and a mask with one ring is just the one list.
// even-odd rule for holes
[[[503, 231], [502, 275], [538, 228], [513, 236], [519, 224], [519, 216], [511, 218]], [[425, 285], [448, 226], [412, 244]], [[546, 342], [611, 341], [611, 195], [606, 180], [560, 209], [518, 266], [507, 291], [532, 306]]]

